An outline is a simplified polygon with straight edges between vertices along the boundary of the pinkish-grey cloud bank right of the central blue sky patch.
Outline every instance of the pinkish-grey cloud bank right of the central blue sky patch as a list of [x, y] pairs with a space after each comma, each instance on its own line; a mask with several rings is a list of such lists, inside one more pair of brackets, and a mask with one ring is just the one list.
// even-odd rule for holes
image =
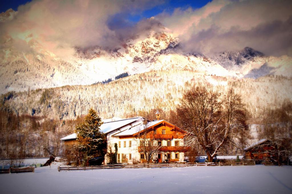
[[249, 46], [266, 55], [292, 56], [292, 1], [212, 1], [156, 18], [186, 52], [214, 54]]

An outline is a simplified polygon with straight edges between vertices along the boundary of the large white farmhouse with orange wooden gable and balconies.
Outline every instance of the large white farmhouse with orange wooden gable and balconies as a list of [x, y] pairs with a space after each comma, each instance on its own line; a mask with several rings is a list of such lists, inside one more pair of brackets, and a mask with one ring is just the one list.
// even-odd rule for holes
[[[185, 131], [179, 127], [165, 121], [158, 120], [160, 113], [157, 111], [157, 120], [150, 121], [144, 117], [134, 117], [128, 119], [119, 119], [107, 121], [100, 126], [101, 132], [106, 134], [107, 149], [111, 147], [114, 151], [114, 144], [118, 146], [117, 162], [132, 163], [133, 160], [146, 162], [145, 154], [141, 150], [141, 134], [147, 134], [148, 143], [153, 146], [157, 145], [157, 150], [153, 159], [157, 158], [158, 162], [183, 162], [185, 151], [190, 150], [189, 146], [185, 146]], [[65, 143], [66, 149], [77, 143], [76, 134], [63, 137], [61, 139]], [[74, 140], [75, 142], [73, 143]], [[145, 139], [143, 139], [145, 141]], [[108, 163], [107, 155], [105, 155], [104, 163]], [[150, 162], [153, 162], [151, 160]]]

